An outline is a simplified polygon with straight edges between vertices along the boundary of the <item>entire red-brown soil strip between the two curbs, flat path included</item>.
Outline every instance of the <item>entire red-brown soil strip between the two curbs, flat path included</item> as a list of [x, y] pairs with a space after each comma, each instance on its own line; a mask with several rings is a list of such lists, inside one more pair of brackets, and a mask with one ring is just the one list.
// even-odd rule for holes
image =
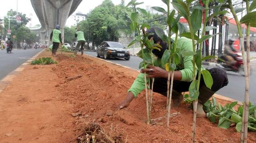
[[[40, 57], [49, 55], [43, 52]], [[27, 66], [0, 94], [1, 143], [76, 142], [78, 134], [91, 123], [98, 123], [111, 136], [122, 136], [123, 142], [190, 141], [192, 110], [188, 109], [188, 104], [182, 103], [171, 110], [180, 114], [170, 118], [169, 129], [165, 120], [156, 125], [145, 123], [145, 93], [129, 107], [115, 110], [125, 99], [137, 71], [88, 56], [58, 55], [56, 59], [56, 65], [38, 65], [38, 69]], [[67, 81], [78, 75], [82, 77]], [[165, 116], [165, 108], [166, 97], [154, 93], [152, 118]], [[107, 116], [111, 111], [113, 115]], [[77, 112], [82, 115], [71, 116]], [[237, 143], [240, 140], [240, 133], [234, 127], [220, 129], [207, 118], [197, 118], [196, 124], [200, 143]], [[7, 137], [7, 133], [12, 135]], [[249, 132], [248, 142], [256, 142], [255, 132]]]

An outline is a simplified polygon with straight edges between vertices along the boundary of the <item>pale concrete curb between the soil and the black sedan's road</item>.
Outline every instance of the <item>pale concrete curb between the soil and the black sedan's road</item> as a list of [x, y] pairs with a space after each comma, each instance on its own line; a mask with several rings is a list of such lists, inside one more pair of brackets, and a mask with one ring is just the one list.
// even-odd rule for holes
[[[84, 55], [89, 56], [89, 57], [93, 57], [93, 58], [95, 58], [95, 59], [99, 59], [99, 60], [105, 61], [105, 62], [107, 62], [107, 63], [114, 64], [114, 65], [116, 65], [116, 66], [121, 66], [121, 67], [123, 67], [123, 68], [128, 68], [129, 70], [134, 70], [134, 71], [140, 72], [140, 70], [135, 70], [134, 68], [130, 68], [130, 67], [128, 67], [128, 66], [123, 66], [122, 64], [116, 64], [116, 63], [113, 63], [113, 62], [111, 62], [111, 61], [106, 61], [105, 59], [101, 59], [101, 58], [98, 58], [98, 57], [94, 57], [94, 56], [92, 56], [92, 55], [87, 55], [87, 54], [84, 54]], [[209, 62], [207, 62], [207, 63], [209, 63]], [[241, 101], [238, 101], [238, 100], [235, 100], [235, 99], [232, 99], [232, 98], [229, 98], [229, 97], [225, 97], [225, 96], [223, 96], [223, 95], [214, 94], [213, 96], [214, 96], [215, 98], [220, 99], [220, 100], [224, 100], [224, 101], [228, 101], [228, 102], [238, 102], [238, 105], [243, 105]]]

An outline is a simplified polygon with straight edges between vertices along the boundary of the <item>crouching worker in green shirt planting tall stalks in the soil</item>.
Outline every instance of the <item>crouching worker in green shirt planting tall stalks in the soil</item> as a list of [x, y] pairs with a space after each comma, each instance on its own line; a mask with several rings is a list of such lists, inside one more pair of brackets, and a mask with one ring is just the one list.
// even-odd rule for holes
[[[162, 29], [159, 29], [162, 31]], [[154, 43], [158, 43], [162, 46], [162, 50], [153, 50], [154, 55], [161, 59], [164, 50], [167, 50], [168, 45], [160, 39], [156, 33], [154, 28], [147, 30], [147, 33], [154, 33], [154, 35], [149, 36], [151, 39], [153, 37]], [[192, 50], [192, 41], [187, 38], [178, 38], [178, 47], [181, 50]], [[193, 80], [193, 65], [191, 60], [193, 56], [182, 57], [183, 63], [177, 65], [176, 70], [174, 71], [174, 81], [173, 81], [173, 89], [172, 89], [172, 107], [177, 107], [183, 101], [182, 92], [189, 91], [189, 86]], [[161, 60], [157, 60], [161, 61]], [[147, 66], [147, 68], [142, 69], [141, 73], [134, 80], [131, 88], [128, 90], [128, 94], [126, 99], [118, 105], [119, 109], [129, 106], [130, 102], [138, 96], [139, 93], [145, 88], [144, 84], [144, 72], [146, 72], [147, 77], [154, 77], [154, 88], [153, 91], [156, 93], [160, 93], [163, 96], [167, 96], [167, 78], [168, 71], [160, 68], [160, 62], [154, 62], [155, 66]], [[200, 81], [200, 95], [198, 97], [198, 106], [197, 106], [197, 116], [204, 117], [206, 114], [203, 111], [203, 104], [212, 97], [212, 95], [223, 88], [228, 84], [227, 75], [224, 70], [221, 68], [211, 68], [209, 70], [213, 79], [212, 88], [209, 89], [205, 86], [203, 78]], [[203, 77], [203, 76], [201, 76]], [[151, 82], [152, 83], [152, 82]], [[151, 87], [151, 86], [150, 86]]]

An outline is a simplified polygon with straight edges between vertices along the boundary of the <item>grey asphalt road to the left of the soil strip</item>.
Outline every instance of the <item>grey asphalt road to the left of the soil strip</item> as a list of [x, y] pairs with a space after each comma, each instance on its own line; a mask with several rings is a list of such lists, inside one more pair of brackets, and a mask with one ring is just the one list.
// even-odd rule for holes
[[4, 78], [41, 50], [43, 49], [13, 50], [12, 53], [8, 54], [6, 50], [0, 50], [0, 79]]

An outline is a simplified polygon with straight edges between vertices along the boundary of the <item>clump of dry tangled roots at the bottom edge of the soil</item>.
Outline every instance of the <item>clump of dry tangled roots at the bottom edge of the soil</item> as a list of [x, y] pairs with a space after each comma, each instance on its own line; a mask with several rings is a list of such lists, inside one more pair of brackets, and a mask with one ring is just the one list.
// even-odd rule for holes
[[76, 138], [77, 143], [125, 143], [122, 135], [111, 136], [99, 124], [92, 123], [84, 127]]

